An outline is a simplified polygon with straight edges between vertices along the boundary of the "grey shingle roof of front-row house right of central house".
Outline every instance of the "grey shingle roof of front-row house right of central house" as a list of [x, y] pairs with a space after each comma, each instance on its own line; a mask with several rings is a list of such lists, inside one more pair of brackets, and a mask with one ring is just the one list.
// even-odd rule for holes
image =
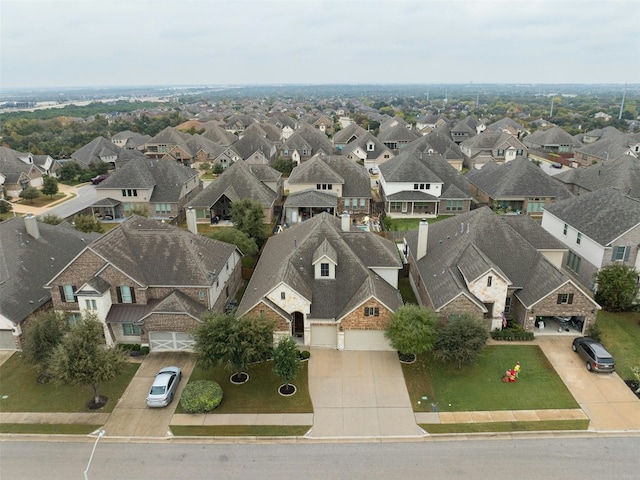
[[[406, 240], [415, 255], [418, 230], [407, 232]], [[477, 275], [493, 268], [506, 277], [525, 306], [568, 282], [527, 239], [488, 207], [429, 225], [427, 254], [418, 260], [417, 267], [436, 311], [459, 295], [482, 304], [467, 288], [462, 271]]]

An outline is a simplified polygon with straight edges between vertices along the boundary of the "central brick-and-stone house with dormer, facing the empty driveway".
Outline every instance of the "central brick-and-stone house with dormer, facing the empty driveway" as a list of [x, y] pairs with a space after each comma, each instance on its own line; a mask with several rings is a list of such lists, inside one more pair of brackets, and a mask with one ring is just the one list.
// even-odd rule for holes
[[275, 322], [311, 347], [391, 350], [384, 331], [402, 306], [395, 244], [328, 213], [271, 237], [238, 316]]

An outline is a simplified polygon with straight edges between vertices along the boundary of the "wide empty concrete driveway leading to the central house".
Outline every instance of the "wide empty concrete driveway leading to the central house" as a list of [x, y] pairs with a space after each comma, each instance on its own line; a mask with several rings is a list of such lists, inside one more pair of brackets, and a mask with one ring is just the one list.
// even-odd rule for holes
[[418, 437], [411, 401], [395, 352], [313, 349], [311, 437]]

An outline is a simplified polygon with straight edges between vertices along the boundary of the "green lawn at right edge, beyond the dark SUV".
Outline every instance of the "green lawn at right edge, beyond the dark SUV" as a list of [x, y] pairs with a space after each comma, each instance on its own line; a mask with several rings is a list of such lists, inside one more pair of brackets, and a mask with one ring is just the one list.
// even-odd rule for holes
[[597, 325], [602, 332], [602, 344], [616, 361], [621, 378], [633, 378], [631, 367], [640, 367], [640, 314], [600, 311]]

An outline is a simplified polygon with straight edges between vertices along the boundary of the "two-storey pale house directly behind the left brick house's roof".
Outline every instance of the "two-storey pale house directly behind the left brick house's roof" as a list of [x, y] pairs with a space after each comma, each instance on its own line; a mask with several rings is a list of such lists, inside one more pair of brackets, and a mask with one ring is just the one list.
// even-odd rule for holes
[[202, 191], [202, 181], [192, 168], [161, 158], [136, 158], [96, 186], [98, 200], [92, 213], [122, 218], [136, 207], [149, 217], [170, 220], [183, 215], [185, 204]]

